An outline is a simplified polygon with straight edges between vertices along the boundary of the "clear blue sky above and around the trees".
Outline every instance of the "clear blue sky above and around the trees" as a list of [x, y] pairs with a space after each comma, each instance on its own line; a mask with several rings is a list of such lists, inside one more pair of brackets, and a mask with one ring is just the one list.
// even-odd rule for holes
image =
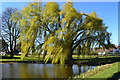
[[[27, 6], [28, 2], [3, 2], [2, 10], [7, 7], [18, 8], [21, 10]], [[59, 3], [63, 5], [64, 2]], [[112, 33], [111, 42], [118, 45], [118, 2], [75, 2], [74, 7], [83, 13], [95, 11], [104, 20], [108, 31]]]

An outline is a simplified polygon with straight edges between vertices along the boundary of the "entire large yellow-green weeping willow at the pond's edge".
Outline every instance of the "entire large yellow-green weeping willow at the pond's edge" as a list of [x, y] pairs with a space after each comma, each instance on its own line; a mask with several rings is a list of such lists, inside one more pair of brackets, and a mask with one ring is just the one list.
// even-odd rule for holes
[[60, 10], [55, 2], [29, 4], [21, 11], [21, 47], [23, 57], [34, 47], [41, 35], [45, 61], [71, 63], [73, 51], [79, 46], [81, 53], [88, 53], [95, 45], [110, 44], [110, 34], [103, 20], [95, 12], [79, 13], [72, 2]]

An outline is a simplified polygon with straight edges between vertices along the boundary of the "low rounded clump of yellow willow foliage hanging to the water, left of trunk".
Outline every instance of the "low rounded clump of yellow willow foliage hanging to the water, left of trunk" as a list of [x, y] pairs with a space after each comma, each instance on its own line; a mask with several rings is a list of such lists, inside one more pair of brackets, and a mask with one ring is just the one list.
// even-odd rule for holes
[[51, 36], [44, 45], [44, 49], [47, 50], [45, 61], [52, 59], [52, 63], [65, 64], [67, 55], [69, 54], [69, 45], [65, 41], [60, 41], [56, 36]]

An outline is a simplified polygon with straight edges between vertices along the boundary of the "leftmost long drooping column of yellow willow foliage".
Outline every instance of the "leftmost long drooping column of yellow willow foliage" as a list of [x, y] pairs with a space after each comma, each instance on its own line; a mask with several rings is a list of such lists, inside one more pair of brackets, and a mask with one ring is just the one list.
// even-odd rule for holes
[[21, 27], [21, 51], [23, 54], [21, 55], [21, 59], [24, 58], [26, 54], [29, 53], [29, 49], [34, 45], [34, 41], [37, 36], [39, 24], [41, 22], [40, 19], [40, 9], [41, 3], [32, 3], [25, 7], [22, 13], [22, 19], [20, 19], [20, 27]]

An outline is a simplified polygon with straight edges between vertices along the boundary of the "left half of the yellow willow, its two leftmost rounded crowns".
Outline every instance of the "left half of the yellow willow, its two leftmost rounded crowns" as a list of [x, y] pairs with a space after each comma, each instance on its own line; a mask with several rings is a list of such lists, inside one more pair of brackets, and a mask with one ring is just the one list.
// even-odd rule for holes
[[[22, 14], [22, 19], [20, 19], [22, 58], [35, 47], [35, 41], [41, 39], [41, 44], [43, 44], [48, 36], [57, 30], [54, 25], [57, 24], [57, 16], [59, 15], [58, 6], [54, 2], [50, 2], [43, 7], [41, 3], [35, 2], [20, 12]], [[44, 50], [44, 54], [45, 52], [46, 50]]]

